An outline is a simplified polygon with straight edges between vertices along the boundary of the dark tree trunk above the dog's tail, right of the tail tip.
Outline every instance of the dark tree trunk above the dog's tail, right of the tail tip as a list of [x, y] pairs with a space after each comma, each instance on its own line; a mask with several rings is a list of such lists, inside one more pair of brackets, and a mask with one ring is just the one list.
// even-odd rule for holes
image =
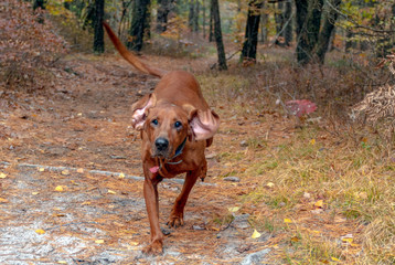
[[148, 24], [148, 8], [150, 0], [135, 0], [132, 9], [132, 20], [129, 34], [131, 40], [127, 43], [127, 46], [134, 51], [141, 51], [143, 36]]

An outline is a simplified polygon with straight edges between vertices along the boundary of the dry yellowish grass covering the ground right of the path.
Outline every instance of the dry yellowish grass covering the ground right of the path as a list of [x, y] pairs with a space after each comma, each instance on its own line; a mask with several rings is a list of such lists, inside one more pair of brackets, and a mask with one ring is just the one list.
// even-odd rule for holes
[[[348, 119], [349, 106], [383, 75], [363, 76], [369, 67], [344, 59], [309, 70], [287, 59], [199, 75], [223, 117], [220, 177], [238, 176], [249, 187], [237, 198], [256, 227], [280, 239], [275, 259], [394, 264], [394, 160], [386, 141]], [[317, 103], [313, 117], [323, 119], [296, 129], [275, 103], [291, 98]]]

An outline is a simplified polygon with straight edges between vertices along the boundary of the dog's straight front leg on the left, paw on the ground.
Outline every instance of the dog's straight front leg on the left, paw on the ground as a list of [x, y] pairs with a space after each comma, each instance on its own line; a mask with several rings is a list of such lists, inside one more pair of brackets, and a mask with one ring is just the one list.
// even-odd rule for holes
[[143, 194], [146, 208], [151, 229], [151, 243], [142, 250], [143, 253], [158, 255], [162, 253], [163, 233], [159, 226], [159, 195], [158, 183], [161, 181], [159, 174], [152, 174], [145, 168]]

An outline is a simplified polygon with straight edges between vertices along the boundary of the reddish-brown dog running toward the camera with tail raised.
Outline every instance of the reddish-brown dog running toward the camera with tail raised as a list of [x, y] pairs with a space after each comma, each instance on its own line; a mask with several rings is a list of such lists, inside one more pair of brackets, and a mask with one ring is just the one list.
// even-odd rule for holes
[[151, 227], [151, 244], [143, 252], [162, 253], [163, 233], [159, 226], [158, 183], [186, 172], [168, 224], [183, 225], [184, 206], [198, 178], [204, 179], [207, 163], [204, 150], [212, 144], [220, 117], [209, 108], [198, 81], [182, 71], [164, 73], [140, 62], [104, 26], [120, 55], [136, 68], [162, 77], [154, 92], [132, 105], [132, 126], [141, 131], [143, 194]]

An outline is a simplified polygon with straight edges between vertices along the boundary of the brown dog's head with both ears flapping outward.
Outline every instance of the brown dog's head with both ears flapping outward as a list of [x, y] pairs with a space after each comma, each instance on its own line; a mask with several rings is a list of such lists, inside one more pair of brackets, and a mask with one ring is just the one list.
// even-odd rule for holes
[[145, 130], [152, 145], [152, 156], [164, 159], [174, 157], [186, 138], [209, 139], [220, 126], [218, 115], [210, 109], [203, 112], [189, 104], [158, 103], [154, 94], [146, 95], [131, 109], [132, 127]]

